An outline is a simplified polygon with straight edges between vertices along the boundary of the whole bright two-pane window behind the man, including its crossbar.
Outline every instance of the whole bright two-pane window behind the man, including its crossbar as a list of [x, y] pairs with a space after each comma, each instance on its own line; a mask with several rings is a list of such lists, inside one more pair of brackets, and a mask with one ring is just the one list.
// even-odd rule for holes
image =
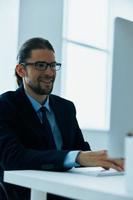
[[64, 1], [62, 95], [82, 129], [108, 129], [108, 1]]

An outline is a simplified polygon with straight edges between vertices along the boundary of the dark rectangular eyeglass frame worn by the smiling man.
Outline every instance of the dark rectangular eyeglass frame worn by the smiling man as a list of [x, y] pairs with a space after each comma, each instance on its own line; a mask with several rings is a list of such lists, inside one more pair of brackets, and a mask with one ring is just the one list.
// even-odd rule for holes
[[[48, 67], [50, 67], [50, 69], [55, 69], [56, 71], [60, 70], [61, 68], [61, 63], [58, 63], [58, 62], [52, 62], [52, 63], [47, 63], [45, 61], [36, 61], [34, 63], [32, 62], [25, 62], [25, 63], [20, 63], [21, 65], [23, 65], [24, 67], [26, 67], [27, 65], [32, 65], [35, 67], [35, 69], [39, 70], [39, 71], [45, 71], [47, 70]], [[38, 64], [46, 64], [45, 67], [38, 67], [37, 65]], [[55, 66], [52, 66], [52, 64], [55, 64]], [[59, 69], [56, 69], [56, 67], [59, 67]]]

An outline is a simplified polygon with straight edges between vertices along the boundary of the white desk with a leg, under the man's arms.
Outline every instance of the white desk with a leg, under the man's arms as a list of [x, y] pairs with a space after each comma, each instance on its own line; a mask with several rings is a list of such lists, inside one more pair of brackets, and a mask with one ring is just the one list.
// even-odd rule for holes
[[46, 192], [80, 200], [133, 200], [126, 192], [124, 176], [26, 170], [5, 171], [4, 181], [31, 188], [32, 200], [44, 200]]

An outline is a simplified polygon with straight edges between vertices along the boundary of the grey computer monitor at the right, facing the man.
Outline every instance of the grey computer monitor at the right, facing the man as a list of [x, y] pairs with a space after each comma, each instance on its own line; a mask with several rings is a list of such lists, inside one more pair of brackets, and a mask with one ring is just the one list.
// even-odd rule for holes
[[133, 130], [133, 22], [117, 17], [112, 48], [109, 156], [124, 157], [126, 134]]

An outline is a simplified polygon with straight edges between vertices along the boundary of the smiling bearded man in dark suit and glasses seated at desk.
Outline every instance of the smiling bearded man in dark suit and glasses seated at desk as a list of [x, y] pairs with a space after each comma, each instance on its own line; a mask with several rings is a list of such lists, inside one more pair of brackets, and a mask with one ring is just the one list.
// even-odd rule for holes
[[[43, 38], [29, 39], [20, 48], [15, 69], [19, 88], [0, 97], [1, 180], [4, 170], [64, 171], [74, 166], [123, 170], [123, 163], [109, 160], [106, 151], [90, 151], [73, 103], [51, 94], [60, 67], [52, 45]], [[10, 200], [29, 199], [28, 189], [5, 183], [4, 189]], [[48, 199], [63, 197], [49, 194]]]

